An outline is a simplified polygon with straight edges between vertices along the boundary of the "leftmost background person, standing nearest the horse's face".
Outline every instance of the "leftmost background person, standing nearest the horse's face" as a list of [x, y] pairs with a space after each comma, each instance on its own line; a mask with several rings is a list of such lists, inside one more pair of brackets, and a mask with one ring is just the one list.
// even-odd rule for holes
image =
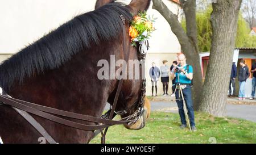
[[155, 87], [155, 95], [158, 95], [158, 79], [160, 77], [160, 69], [155, 66], [155, 62], [152, 62], [152, 67], [150, 68], [149, 71], [150, 78], [151, 78], [151, 83], [152, 83], [152, 97], [154, 96], [154, 87]]

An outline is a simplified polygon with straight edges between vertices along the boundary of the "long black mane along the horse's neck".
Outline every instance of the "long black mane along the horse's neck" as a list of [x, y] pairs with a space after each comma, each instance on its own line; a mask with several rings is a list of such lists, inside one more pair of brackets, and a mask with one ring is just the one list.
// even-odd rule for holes
[[44, 35], [0, 65], [1, 87], [8, 91], [14, 82], [22, 83], [24, 77], [59, 68], [76, 53], [101, 41], [117, 39], [122, 32], [121, 14], [129, 21], [132, 19], [128, 6], [109, 3]]

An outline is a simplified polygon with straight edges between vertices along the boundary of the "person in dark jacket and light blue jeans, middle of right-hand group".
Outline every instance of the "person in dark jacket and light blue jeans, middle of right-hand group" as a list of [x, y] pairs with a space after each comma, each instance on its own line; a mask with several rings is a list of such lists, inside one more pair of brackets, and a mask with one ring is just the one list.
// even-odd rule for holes
[[249, 78], [250, 72], [248, 67], [245, 65], [245, 60], [240, 61], [240, 66], [241, 68], [238, 74], [238, 81], [239, 81], [238, 99], [244, 100], [245, 99], [245, 82], [246, 82], [246, 79]]

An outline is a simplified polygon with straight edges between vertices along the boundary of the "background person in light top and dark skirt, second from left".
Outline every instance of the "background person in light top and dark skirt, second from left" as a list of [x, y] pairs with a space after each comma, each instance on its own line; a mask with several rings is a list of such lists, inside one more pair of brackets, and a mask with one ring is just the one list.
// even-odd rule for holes
[[167, 60], [163, 60], [163, 65], [160, 66], [161, 71], [161, 81], [163, 83], [163, 95], [168, 95], [168, 85], [169, 85], [169, 67], [167, 66]]

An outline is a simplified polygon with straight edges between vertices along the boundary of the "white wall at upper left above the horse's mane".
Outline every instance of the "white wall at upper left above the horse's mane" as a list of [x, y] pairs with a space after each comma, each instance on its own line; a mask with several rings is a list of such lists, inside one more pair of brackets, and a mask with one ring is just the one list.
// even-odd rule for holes
[[82, 12], [96, 0], [0, 0], [0, 53], [16, 53]]

